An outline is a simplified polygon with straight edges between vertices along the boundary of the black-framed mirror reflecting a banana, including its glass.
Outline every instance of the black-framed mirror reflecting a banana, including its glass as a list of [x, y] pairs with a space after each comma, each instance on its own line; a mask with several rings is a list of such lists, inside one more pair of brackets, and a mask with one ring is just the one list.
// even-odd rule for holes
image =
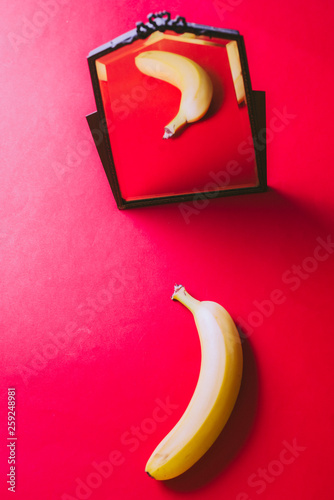
[[119, 208], [265, 189], [242, 37], [178, 19], [157, 15], [88, 58]]

